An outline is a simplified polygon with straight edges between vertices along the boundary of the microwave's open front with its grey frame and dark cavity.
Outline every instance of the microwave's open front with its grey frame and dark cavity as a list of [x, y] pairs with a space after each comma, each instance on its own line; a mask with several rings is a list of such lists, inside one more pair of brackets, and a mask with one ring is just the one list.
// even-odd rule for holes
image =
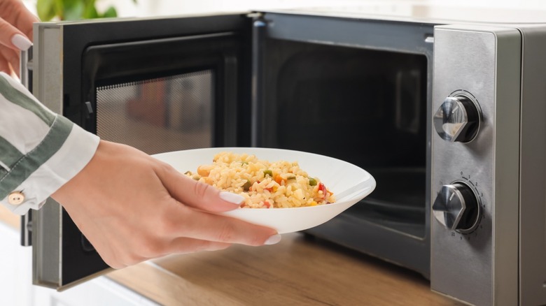
[[253, 54], [261, 78], [253, 144], [342, 159], [377, 182], [363, 201], [304, 233], [428, 278], [433, 27], [265, 20]]

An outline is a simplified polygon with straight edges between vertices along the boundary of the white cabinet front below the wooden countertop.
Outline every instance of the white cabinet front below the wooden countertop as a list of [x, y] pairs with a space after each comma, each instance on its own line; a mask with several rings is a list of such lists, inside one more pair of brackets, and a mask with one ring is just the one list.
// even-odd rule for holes
[[62, 292], [34, 286], [32, 249], [22, 247], [19, 240], [19, 232], [0, 221], [0, 305], [158, 305], [107, 277], [97, 277]]

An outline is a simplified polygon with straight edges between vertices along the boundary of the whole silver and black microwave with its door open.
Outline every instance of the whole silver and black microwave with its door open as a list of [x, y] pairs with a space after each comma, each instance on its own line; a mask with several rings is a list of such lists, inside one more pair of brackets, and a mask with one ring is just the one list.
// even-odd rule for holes
[[[542, 305], [545, 53], [541, 10], [382, 1], [39, 22], [21, 78], [55, 112], [148, 154], [349, 161], [377, 188], [304, 235], [471, 305]], [[55, 201], [23, 221], [34, 284], [62, 290], [109, 268]]]

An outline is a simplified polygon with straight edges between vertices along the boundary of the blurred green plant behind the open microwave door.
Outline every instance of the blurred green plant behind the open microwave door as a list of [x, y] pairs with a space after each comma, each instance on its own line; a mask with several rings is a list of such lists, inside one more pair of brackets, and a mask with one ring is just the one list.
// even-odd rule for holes
[[[110, 6], [104, 13], [99, 13], [95, 6], [97, 0], [38, 0], [36, 12], [42, 21], [83, 20], [93, 18], [117, 17], [116, 8]], [[133, 0], [137, 3], [137, 0]]]

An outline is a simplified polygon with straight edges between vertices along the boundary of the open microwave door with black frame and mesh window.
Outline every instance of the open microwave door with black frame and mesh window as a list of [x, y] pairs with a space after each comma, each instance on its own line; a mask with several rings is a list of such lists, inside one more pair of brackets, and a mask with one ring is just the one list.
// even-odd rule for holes
[[[252, 23], [246, 13], [37, 23], [31, 91], [148, 154], [249, 145]], [[31, 219], [34, 284], [62, 290], [109, 270], [52, 199]]]

